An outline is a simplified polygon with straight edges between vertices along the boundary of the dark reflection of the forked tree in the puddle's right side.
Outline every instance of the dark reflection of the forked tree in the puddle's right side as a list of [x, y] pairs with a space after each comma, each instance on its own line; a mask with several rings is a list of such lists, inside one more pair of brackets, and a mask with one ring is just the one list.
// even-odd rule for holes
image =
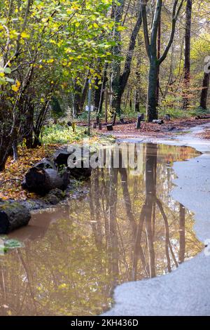
[[[149, 277], [155, 277], [155, 216], [156, 216], [156, 205], [160, 210], [160, 214], [165, 224], [165, 255], [167, 258], [167, 270], [172, 271], [172, 260], [174, 265], [178, 267], [178, 261], [174, 255], [172, 244], [170, 242], [169, 235], [169, 221], [164, 211], [164, 207], [160, 199], [157, 197], [156, 185], [157, 185], [157, 158], [158, 158], [158, 147], [157, 145], [146, 146], [146, 170], [145, 170], [145, 181], [146, 181], [146, 199], [144, 206], [141, 209], [141, 216], [139, 220], [139, 227], [137, 232], [136, 246], [134, 249], [134, 263], [132, 270], [132, 279], [137, 280], [137, 260], [141, 258], [141, 265], [145, 268]], [[169, 180], [169, 172], [167, 169], [167, 179]], [[143, 223], [146, 223], [146, 242], [148, 246], [148, 263], [149, 267], [146, 267], [146, 258], [143, 255], [141, 248], [141, 233], [143, 230]], [[180, 240], [179, 240], [179, 261], [183, 262], [185, 258], [185, 211], [183, 206], [180, 204]], [[171, 256], [170, 256], [171, 253]], [[171, 260], [172, 258], [172, 260]], [[149, 270], [149, 273], [147, 272]]]

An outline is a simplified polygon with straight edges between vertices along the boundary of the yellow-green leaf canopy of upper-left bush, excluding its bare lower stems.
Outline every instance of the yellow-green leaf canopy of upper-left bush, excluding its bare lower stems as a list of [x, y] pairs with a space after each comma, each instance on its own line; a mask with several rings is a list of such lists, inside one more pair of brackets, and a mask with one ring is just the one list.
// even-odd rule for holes
[[114, 23], [106, 16], [110, 6], [111, 0], [25, 0], [22, 6], [18, 1], [11, 5], [3, 1], [0, 84], [18, 93], [20, 88], [12, 88], [11, 84], [29, 67], [34, 67], [34, 75], [47, 74], [48, 83], [56, 84], [58, 89], [66, 88], [69, 79], [79, 81], [80, 73], [88, 69], [94, 77], [96, 72], [90, 63], [101, 58], [103, 65], [104, 60], [111, 59], [113, 41], [109, 40], [109, 32]]

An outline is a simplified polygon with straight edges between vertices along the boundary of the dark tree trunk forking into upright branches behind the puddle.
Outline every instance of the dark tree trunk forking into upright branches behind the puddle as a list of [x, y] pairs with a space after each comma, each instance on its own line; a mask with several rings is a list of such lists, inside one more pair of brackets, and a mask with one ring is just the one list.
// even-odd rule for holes
[[[157, 110], [157, 81], [158, 81], [158, 70], [162, 62], [167, 58], [169, 49], [174, 41], [174, 34], [176, 29], [176, 22], [179, 18], [179, 13], [183, 6], [184, 0], [174, 0], [172, 8], [172, 29], [169, 37], [169, 42], [165, 48], [165, 51], [158, 58], [157, 51], [157, 39], [158, 39], [158, 26], [160, 23], [160, 15], [162, 12], [162, 0], [156, 1], [155, 13], [153, 15], [153, 22], [151, 27], [151, 36], [149, 36], [148, 19], [147, 19], [147, 5], [148, 0], [144, 0], [142, 4], [142, 18], [144, 24], [144, 39], [146, 45], [146, 53], [149, 59], [149, 73], [148, 73], [148, 93], [147, 93], [147, 106], [146, 106], [146, 117], [147, 121], [153, 121], [158, 119]], [[178, 7], [178, 8], [177, 8]]]

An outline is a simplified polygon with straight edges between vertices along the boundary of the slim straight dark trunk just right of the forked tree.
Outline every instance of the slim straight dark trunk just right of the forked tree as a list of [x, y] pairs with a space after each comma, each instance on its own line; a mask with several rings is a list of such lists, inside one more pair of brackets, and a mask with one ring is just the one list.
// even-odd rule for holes
[[189, 106], [189, 86], [190, 86], [190, 39], [191, 39], [191, 24], [192, 24], [192, 7], [193, 1], [187, 0], [186, 4], [186, 35], [185, 35], [185, 63], [184, 63], [184, 88], [183, 93], [183, 109]]

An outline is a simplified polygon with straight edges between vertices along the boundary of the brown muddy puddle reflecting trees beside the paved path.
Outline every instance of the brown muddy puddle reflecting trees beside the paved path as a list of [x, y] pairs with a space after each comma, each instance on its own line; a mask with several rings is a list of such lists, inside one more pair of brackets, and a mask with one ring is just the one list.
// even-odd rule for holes
[[84, 198], [36, 213], [0, 256], [0, 315], [99, 315], [117, 284], [165, 275], [202, 250], [193, 214], [169, 193], [190, 147], [141, 145], [137, 176], [97, 169]]

